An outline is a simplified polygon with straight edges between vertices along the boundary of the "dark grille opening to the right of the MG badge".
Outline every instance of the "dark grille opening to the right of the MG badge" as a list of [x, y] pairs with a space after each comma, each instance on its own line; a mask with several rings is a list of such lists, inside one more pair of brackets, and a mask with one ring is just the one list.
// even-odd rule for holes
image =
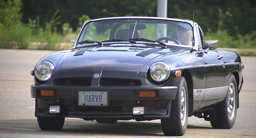
[[101, 78], [100, 86], [140, 86], [139, 80], [121, 79], [121, 78]]

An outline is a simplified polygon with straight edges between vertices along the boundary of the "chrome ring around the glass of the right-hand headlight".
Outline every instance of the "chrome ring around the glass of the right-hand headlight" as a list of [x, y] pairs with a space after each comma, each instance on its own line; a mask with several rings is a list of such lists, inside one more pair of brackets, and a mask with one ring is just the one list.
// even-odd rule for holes
[[[166, 71], [166, 76], [164, 77], [164, 78], [162, 78], [162, 79], [157, 79], [157, 78], [155, 78], [154, 76], [152, 76], [152, 71], [153, 71], [153, 68], [154, 68], [154, 66], [155, 65], [160, 65], [160, 66], [162, 66], [163, 67], [163, 69]], [[167, 80], [167, 78], [169, 78], [169, 76], [170, 76], [170, 67], [165, 63], [165, 62], [161, 62], [161, 61], [159, 61], [159, 62], [155, 62], [154, 64], [152, 64], [151, 66], [150, 66], [150, 77], [151, 77], [151, 79], [153, 80], [153, 81], [155, 81], [155, 82], [163, 82], [163, 81], [165, 81], [165, 80]], [[161, 77], [160, 77], [161, 78]]]

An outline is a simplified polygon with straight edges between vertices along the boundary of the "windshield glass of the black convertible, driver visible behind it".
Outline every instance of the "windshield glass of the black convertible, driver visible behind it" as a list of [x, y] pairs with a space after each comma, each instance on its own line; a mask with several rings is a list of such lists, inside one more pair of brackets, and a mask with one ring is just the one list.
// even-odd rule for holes
[[[157, 19], [112, 19], [88, 23], [79, 41], [131, 40], [146, 38], [164, 43], [191, 45], [192, 26], [188, 23]], [[82, 45], [82, 44], [78, 44]]]

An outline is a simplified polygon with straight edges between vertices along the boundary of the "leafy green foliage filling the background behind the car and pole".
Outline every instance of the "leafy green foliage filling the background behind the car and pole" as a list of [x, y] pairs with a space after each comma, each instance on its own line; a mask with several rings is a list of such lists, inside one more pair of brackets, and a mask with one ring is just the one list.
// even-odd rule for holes
[[[254, 0], [168, 0], [167, 17], [193, 19], [205, 40], [219, 46], [256, 49]], [[207, 7], [207, 8], [206, 8]], [[40, 49], [76, 38], [84, 21], [113, 16], [156, 16], [157, 0], [0, 0], [0, 48]]]

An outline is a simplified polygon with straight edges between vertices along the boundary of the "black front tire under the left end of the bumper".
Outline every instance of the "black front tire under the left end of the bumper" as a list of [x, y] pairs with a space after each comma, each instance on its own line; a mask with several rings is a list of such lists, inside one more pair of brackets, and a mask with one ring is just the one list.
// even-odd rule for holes
[[65, 117], [37, 117], [37, 122], [42, 130], [61, 130]]

